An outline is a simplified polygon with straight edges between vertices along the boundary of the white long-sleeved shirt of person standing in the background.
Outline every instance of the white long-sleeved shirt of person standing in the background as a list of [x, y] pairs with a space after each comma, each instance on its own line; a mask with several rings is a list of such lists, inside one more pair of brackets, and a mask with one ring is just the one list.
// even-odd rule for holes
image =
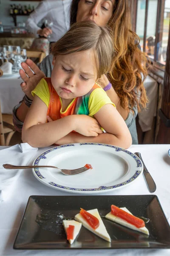
[[70, 27], [71, 0], [43, 0], [26, 21], [26, 27], [34, 35], [41, 29], [37, 24], [42, 19], [53, 22], [49, 41], [56, 42]]

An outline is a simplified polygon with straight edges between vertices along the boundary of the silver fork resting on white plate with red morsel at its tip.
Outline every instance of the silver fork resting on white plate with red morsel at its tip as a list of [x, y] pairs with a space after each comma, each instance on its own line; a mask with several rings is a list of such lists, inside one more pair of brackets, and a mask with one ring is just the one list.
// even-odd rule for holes
[[60, 172], [62, 172], [65, 175], [76, 175], [82, 172], [87, 171], [90, 168], [87, 168], [85, 166], [83, 166], [82, 168], [78, 168], [78, 169], [72, 169], [72, 170], [68, 170], [68, 169], [59, 169], [56, 166], [14, 166], [12, 164], [8, 164], [5, 163], [3, 164], [3, 167], [5, 169], [28, 169], [28, 168], [42, 168], [42, 167], [50, 167], [50, 168], [55, 168], [57, 170], [59, 170]]

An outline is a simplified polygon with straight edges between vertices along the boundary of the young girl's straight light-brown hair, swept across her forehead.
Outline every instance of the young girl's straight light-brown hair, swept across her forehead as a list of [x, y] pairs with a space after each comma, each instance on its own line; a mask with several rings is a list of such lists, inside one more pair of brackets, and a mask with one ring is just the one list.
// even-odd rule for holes
[[113, 42], [107, 29], [94, 22], [75, 23], [68, 32], [52, 45], [51, 53], [66, 55], [92, 49], [97, 69], [97, 79], [108, 73], [113, 58]]

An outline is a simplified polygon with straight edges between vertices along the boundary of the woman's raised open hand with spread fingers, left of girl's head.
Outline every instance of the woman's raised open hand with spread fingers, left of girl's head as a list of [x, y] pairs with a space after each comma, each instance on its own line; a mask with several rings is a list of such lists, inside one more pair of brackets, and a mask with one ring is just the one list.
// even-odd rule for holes
[[34, 90], [40, 80], [45, 77], [45, 74], [30, 59], [27, 59], [25, 63], [22, 62], [21, 66], [23, 70], [20, 70], [20, 76], [24, 82], [21, 83], [20, 86], [26, 96], [28, 96], [29, 99], [33, 99], [31, 91]]

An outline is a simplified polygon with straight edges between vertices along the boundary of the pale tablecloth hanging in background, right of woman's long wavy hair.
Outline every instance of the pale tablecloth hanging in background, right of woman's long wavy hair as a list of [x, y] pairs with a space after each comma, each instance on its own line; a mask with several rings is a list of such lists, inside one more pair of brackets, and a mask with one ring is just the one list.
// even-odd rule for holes
[[151, 76], [147, 76], [144, 81], [144, 87], [149, 99], [146, 109], [143, 109], [139, 116], [139, 125], [142, 131], [149, 131], [152, 128], [153, 118], [156, 116], [158, 104], [158, 83]]

